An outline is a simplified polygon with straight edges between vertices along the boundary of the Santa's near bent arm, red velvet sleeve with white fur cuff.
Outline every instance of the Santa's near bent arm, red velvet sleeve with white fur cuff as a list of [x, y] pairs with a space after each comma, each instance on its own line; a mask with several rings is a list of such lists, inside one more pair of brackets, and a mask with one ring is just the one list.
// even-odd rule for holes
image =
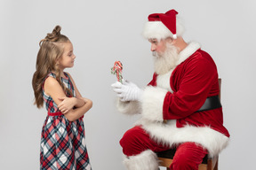
[[180, 81], [180, 89], [171, 93], [166, 89], [149, 86], [142, 96], [142, 117], [148, 120], [178, 120], [196, 112], [203, 104], [218, 78], [215, 66], [207, 60], [189, 63]]

